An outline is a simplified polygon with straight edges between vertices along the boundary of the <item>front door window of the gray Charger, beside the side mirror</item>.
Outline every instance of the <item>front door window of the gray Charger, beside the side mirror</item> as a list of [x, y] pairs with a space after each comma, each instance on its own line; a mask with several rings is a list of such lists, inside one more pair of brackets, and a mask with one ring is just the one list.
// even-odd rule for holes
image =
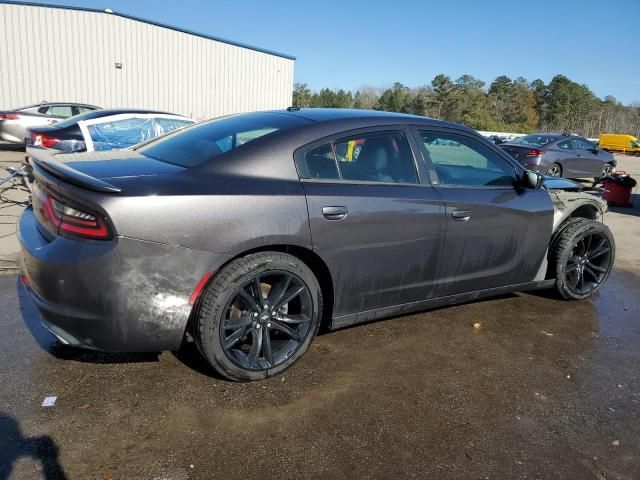
[[420, 136], [440, 185], [506, 187], [516, 181], [509, 162], [473, 138], [429, 131]]

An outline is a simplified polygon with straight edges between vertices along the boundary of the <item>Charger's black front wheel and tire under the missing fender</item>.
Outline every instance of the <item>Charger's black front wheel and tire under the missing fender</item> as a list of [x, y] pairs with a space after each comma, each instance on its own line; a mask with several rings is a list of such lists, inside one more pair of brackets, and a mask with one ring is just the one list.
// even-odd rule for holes
[[607, 280], [615, 259], [609, 228], [595, 220], [569, 219], [552, 245], [556, 290], [566, 300], [583, 300]]

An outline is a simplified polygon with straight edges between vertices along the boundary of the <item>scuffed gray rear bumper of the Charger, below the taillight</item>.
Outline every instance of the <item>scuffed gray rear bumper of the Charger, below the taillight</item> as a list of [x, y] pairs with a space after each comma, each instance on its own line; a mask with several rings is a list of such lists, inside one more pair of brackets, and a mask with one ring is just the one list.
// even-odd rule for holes
[[229, 259], [123, 237], [49, 242], [30, 208], [18, 236], [23, 283], [44, 326], [63, 343], [111, 352], [177, 349], [193, 289]]

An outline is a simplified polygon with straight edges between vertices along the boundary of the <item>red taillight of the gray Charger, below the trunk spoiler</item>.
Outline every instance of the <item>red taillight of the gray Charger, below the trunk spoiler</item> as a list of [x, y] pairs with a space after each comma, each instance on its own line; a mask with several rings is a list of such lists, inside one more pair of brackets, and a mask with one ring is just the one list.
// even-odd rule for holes
[[49, 232], [94, 240], [108, 240], [112, 237], [105, 218], [98, 213], [54, 195], [38, 183], [33, 193], [36, 216]]

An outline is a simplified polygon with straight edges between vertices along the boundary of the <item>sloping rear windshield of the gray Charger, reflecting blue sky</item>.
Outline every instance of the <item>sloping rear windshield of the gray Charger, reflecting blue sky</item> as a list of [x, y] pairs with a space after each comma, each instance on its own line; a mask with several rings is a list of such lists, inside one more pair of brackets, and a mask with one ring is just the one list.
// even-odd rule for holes
[[251, 113], [212, 120], [187, 127], [136, 148], [155, 160], [193, 167], [256, 138], [308, 123], [300, 117], [279, 113]]

